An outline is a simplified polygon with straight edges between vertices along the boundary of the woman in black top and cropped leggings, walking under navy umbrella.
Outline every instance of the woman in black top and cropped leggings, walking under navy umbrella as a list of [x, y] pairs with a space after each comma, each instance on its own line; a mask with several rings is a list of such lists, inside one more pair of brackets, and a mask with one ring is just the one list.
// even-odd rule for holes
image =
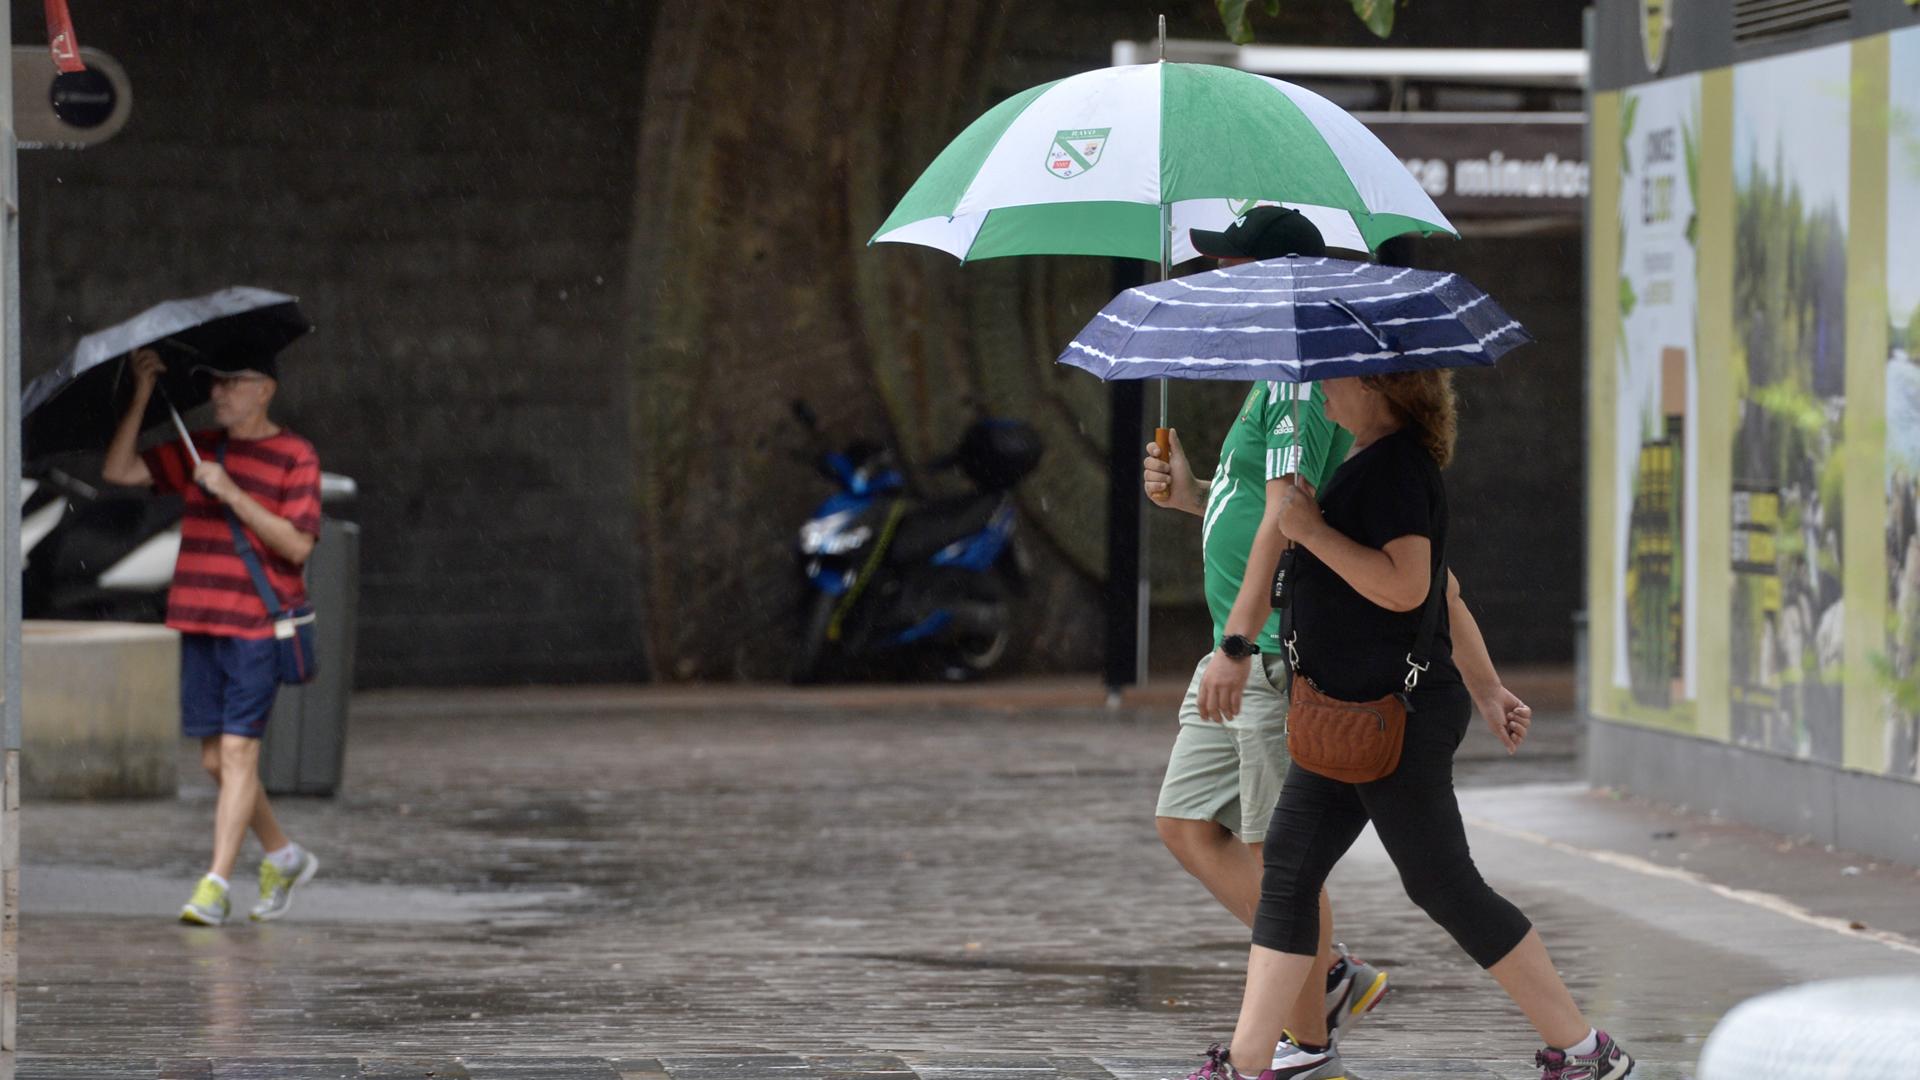
[[[1300, 552], [1292, 582], [1296, 673], [1323, 694], [1371, 701], [1409, 682], [1428, 592], [1446, 557], [1446, 484], [1453, 457], [1450, 371], [1329, 379], [1327, 417], [1354, 434], [1346, 461], [1319, 492], [1288, 492], [1281, 528]], [[1446, 575], [1448, 594], [1459, 582]], [[1452, 634], [1478, 644], [1471, 619], [1448, 626], [1446, 603], [1425, 650], [1427, 669], [1407, 694], [1400, 765], [1348, 784], [1294, 761], [1267, 826], [1265, 876], [1254, 920], [1246, 997], [1231, 1049], [1215, 1047], [1188, 1080], [1334, 1080], [1344, 1074], [1323, 1045], [1284, 1038], [1281, 1017], [1313, 963], [1319, 890], [1371, 821], [1407, 897], [1438, 922], [1513, 997], [1548, 1043], [1542, 1080], [1622, 1080], [1634, 1068], [1594, 1030], [1553, 970], [1540, 934], [1496, 894], [1467, 851], [1453, 796], [1453, 751], [1478, 705], [1507, 746], [1526, 738], [1532, 713], [1505, 690], [1475, 701], [1453, 663]], [[1484, 657], [1480, 648], [1463, 648]], [[1498, 678], [1473, 684], [1500, 686]], [[1279, 1045], [1279, 1053], [1269, 1051]], [[1331, 1068], [1331, 1070], [1329, 1070]]]

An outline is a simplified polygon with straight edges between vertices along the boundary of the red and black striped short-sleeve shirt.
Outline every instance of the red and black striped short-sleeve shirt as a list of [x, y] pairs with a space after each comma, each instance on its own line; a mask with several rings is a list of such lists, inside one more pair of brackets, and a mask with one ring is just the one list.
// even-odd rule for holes
[[[321, 457], [311, 442], [286, 429], [257, 440], [228, 438], [221, 430], [194, 434], [194, 446], [205, 461], [219, 459], [221, 444], [227, 444], [227, 475], [242, 492], [307, 536], [321, 534]], [[173, 590], [167, 594], [167, 626], [184, 634], [271, 638], [267, 605], [261, 603], [253, 578], [234, 550], [227, 505], [194, 482], [194, 461], [186, 455], [186, 448], [179, 440], [167, 440], [142, 457], [154, 473], [157, 492], [186, 496], [180, 559], [173, 565]], [[300, 577], [300, 567], [276, 555], [246, 525], [240, 528], [259, 552], [259, 563], [280, 596], [280, 607], [305, 603], [307, 584]]]

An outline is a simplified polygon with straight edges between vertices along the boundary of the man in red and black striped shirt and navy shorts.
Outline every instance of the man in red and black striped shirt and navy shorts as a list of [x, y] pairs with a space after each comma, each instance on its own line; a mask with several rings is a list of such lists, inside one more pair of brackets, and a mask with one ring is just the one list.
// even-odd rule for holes
[[305, 607], [301, 567], [321, 534], [321, 461], [311, 442], [267, 415], [278, 388], [271, 352], [196, 369], [213, 380], [213, 415], [223, 430], [198, 432], [192, 444], [167, 440], [144, 454], [136, 450], [142, 419], [165, 363], [142, 348], [131, 367], [132, 402], [108, 446], [102, 477], [186, 500], [167, 626], [180, 632], [180, 726], [200, 740], [200, 763], [221, 792], [213, 859], [180, 920], [227, 920], [228, 878], [248, 828], [265, 851], [252, 917], [278, 919], [292, 905], [292, 890], [319, 871], [319, 859], [286, 838], [259, 782], [259, 738], [280, 676], [275, 625], [240, 542], [252, 548], [278, 607]]

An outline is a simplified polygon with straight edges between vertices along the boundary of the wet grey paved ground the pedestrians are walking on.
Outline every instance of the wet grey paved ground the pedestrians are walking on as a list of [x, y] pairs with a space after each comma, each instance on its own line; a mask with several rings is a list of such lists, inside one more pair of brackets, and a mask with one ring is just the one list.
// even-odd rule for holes
[[[35, 803], [21, 1076], [1181, 1076], [1231, 1030], [1246, 930], [1154, 836], [1164, 698], [363, 696], [346, 790], [278, 803], [324, 869], [267, 926], [169, 920], [213, 809], [190, 757], [175, 801]], [[1475, 732], [1463, 805], [1645, 1076], [1757, 992], [1920, 970], [1912, 869], [1584, 792], [1576, 742]], [[1532, 1074], [1371, 834], [1334, 903], [1396, 986], [1357, 1076]]]

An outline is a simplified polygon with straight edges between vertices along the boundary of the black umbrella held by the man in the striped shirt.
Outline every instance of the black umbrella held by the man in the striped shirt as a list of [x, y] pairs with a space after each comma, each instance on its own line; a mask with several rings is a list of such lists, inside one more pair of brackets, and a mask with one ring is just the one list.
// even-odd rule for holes
[[[21, 459], [33, 463], [54, 454], [104, 448], [132, 400], [127, 356], [138, 348], [152, 348], [167, 363], [140, 427], [169, 419], [182, 427], [179, 411], [204, 404], [211, 394], [211, 380], [194, 375], [194, 367], [240, 371], [250, 361], [278, 354], [311, 329], [292, 296], [234, 286], [192, 300], [167, 300], [86, 334], [60, 367], [21, 392]], [[184, 429], [180, 436], [186, 436]]]

